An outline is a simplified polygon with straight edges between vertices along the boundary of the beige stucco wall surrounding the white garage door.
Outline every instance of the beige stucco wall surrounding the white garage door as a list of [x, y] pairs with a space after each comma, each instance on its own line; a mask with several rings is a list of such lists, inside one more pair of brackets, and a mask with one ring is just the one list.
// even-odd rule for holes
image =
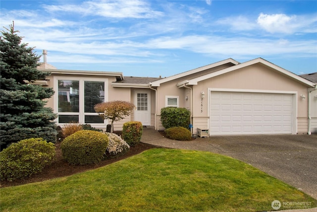
[[[307, 110], [308, 101], [301, 100], [300, 95], [307, 95], [307, 87], [298, 83], [296, 80], [282, 75], [278, 71], [268, 69], [262, 65], [253, 65], [240, 70], [231, 71], [222, 75], [212, 77], [198, 82], [193, 86], [193, 116], [208, 118], [208, 90], [211, 88], [218, 89], [236, 89], [236, 90], [261, 90], [269, 91], [292, 91], [297, 93], [297, 119], [298, 133], [307, 133]], [[200, 93], [204, 91], [206, 98], [201, 101]], [[207, 95], [208, 94], [208, 95]], [[296, 95], [296, 94], [295, 94]], [[296, 107], [296, 102], [293, 103]], [[203, 107], [201, 106], [203, 105]]]

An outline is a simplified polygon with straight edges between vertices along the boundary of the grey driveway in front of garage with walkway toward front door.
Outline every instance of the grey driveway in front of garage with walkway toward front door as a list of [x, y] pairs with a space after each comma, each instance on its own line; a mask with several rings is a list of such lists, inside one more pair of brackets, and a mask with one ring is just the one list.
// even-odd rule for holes
[[[153, 127], [147, 127], [143, 128], [141, 142], [230, 156], [317, 199], [317, 135], [217, 136], [176, 141], [164, 138]], [[317, 208], [285, 212], [288, 211], [317, 212]]]

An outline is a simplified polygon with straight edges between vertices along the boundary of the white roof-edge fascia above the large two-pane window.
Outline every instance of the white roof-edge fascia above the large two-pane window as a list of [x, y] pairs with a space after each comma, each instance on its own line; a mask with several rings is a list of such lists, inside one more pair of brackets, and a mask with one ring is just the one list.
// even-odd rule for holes
[[72, 74], [72, 75], [95, 75], [95, 76], [115, 76], [123, 80], [122, 72], [112, 71], [76, 71], [76, 70], [53, 70], [53, 69], [40, 69], [40, 71], [51, 72], [52, 74]]

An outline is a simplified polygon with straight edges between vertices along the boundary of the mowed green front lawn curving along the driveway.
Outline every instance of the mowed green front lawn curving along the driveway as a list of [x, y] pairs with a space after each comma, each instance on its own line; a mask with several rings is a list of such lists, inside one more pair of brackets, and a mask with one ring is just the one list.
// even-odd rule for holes
[[[230, 157], [150, 149], [81, 174], [0, 189], [1, 212], [271, 211], [271, 202], [316, 201]], [[282, 208], [281, 208], [282, 209]]]

